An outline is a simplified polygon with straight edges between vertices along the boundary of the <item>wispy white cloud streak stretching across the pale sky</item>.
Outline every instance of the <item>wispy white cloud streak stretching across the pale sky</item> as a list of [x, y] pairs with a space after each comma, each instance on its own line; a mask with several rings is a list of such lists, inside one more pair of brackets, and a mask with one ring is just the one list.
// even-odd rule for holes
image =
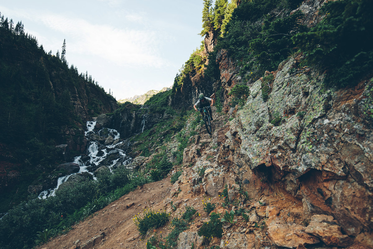
[[[103, 62], [109, 61], [126, 67], [161, 68], [170, 64], [160, 55], [160, 42], [163, 38], [155, 30], [116, 28], [92, 24], [84, 19], [66, 15], [36, 13], [31, 10], [21, 9], [14, 12], [17, 16], [41, 22], [62, 33], [66, 36], [68, 52], [97, 56]], [[141, 15], [133, 13], [127, 15], [127, 18], [140, 21]]]

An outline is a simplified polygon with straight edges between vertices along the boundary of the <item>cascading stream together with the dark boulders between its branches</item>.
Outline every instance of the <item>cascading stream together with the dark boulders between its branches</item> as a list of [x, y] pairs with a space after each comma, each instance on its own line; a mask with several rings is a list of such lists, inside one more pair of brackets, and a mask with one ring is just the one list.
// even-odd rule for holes
[[[73, 163], [79, 165], [79, 172], [59, 177], [57, 180], [57, 186], [54, 189], [48, 189], [41, 192], [38, 196], [39, 199], [46, 199], [48, 196], [56, 195], [56, 190], [72, 175], [88, 172], [93, 175], [94, 180], [97, 180], [97, 178], [94, 176], [94, 171], [97, 168], [107, 166], [107, 168], [110, 169], [110, 172], [113, 172], [113, 168], [115, 168], [118, 164], [126, 165], [131, 162], [131, 158], [129, 158], [126, 153], [120, 149], [120, 146], [123, 145], [123, 141], [117, 141], [120, 138], [119, 132], [114, 129], [103, 128], [95, 133], [95, 125], [96, 121], [87, 122], [87, 131], [85, 132], [85, 136], [89, 137], [89, 141], [91, 141], [87, 147], [88, 155], [80, 155], [74, 158]], [[90, 136], [91, 134], [94, 134], [95, 136]], [[102, 137], [102, 140], [104, 140], [105, 137], [111, 136], [116, 143], [107, 145], [100, 144], [100, 141], [94, 140], [99, 136]], [[107, 159], [108, 155], [113, 155], [112, 158], [115, 157], [115, 159]]]

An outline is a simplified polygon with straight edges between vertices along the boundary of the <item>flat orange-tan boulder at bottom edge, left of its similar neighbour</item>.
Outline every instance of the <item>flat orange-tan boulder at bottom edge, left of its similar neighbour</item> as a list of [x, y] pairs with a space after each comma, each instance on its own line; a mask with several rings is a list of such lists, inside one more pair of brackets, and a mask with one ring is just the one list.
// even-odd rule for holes
[[305, 227], [295, 223], [286, 223], [279, 217], [266, 222], [268, 237], [273, 245], [297, 248], [299, 245], [319, 243], [317, 237], [305, 233]]

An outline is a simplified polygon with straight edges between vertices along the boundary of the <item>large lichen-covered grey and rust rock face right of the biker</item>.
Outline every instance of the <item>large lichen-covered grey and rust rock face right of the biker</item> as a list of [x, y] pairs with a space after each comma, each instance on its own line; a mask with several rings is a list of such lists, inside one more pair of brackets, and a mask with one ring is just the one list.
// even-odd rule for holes
[[[304, 200], [310, 214], [333, 215], [348, 235], [372, 227], [373, 133], [364, 106], [372, 82], [322, 91], [322, 76], [290, 77], [296, 61], [283, 62], [267, 102], [260, 80], [232, 121], [240, 156], [253, 174], [274, 189]], [[279, 116], [279, 126], [270, 121]], [[250, 178], [251, 173], [243, 178]]]

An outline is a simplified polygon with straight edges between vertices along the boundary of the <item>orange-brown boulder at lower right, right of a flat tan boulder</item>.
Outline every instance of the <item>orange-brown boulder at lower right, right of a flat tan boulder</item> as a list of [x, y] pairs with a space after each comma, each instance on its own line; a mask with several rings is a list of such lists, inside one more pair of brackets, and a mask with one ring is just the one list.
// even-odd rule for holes
[[341, 233], [341, 227], [330, 215], [313, 215], [305, 232], [319, 237], [326, 245], [345, 247], [352, 244], [351, 238]]

